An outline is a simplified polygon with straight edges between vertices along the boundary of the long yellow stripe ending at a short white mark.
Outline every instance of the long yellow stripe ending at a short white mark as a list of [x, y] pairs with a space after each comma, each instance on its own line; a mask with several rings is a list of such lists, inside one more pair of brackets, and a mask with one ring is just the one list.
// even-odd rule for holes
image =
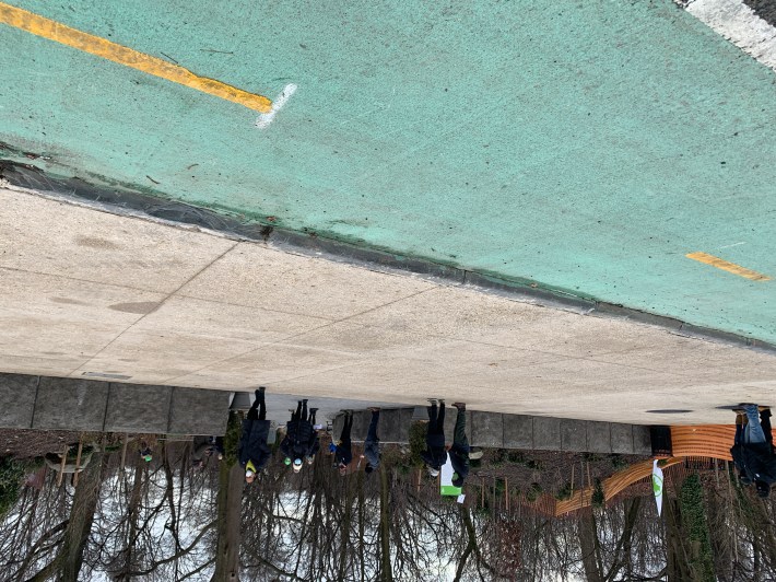
[[78, 48], [79, 50], [96, 55], [97, 57], [103, 57], [104, 59], [118, 62], [119, 65], [131, 67], [132, 69], [155, 77], [161, 77], [167, 81], [173, 81], [174, 83], [179, 83], [210, 95], [215, 95], [222, 100], [238, 103], [249, 109], [261, 113], [270, 113], [272, 110], [272, 101], [263, 95], [248, 93], [247, 91], [227, 85], [221, 81], [199, 77], [188, 69], [184, 69], [166, 60], [139, 53], [126, 46], [117, 45], [99, 36], [77, 31], [59, 22], [38, 16], [37, 14], [9, 5], [4, 2], [0, 2], [0, 23]]

